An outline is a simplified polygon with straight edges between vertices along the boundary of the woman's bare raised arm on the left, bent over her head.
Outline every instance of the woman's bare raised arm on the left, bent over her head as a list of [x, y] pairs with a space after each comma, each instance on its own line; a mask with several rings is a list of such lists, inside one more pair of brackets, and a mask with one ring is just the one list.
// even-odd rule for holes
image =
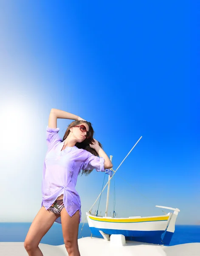
[[49, 128], [57, 128], [57, 118], [63, 118], [63, 119], [72, 119], [72, 120], [84, 120], [80, 116], [76, 116], [74, 114], [68, 113], [63, 110], [59, 110], [56, 108], [52, 108], [49, 119], [48, 119], [48, 127]]

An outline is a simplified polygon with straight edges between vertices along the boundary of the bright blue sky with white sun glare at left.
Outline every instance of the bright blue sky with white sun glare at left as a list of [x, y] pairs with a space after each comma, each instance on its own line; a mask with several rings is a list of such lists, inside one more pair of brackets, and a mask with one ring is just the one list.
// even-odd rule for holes
[[[29, 202], [27, 212], [0, 213], [0, 221], [37, 214], [45, 129], [58, 108], [92, 122], [114, 169], [143, 136], [115, 177], [118, 216], [160, 215], [155, 205], [163, 205], [180, 209], [178, 224], [200, 223], [199, 8], [189, 1], [0, 3], [2, 195]], [[58, 120], [61, 136], [69, 123]], [[83, 221], [103, 180], [95, 170], [78, 179]], [[104, 192], [102, 212], [105, 200]]]

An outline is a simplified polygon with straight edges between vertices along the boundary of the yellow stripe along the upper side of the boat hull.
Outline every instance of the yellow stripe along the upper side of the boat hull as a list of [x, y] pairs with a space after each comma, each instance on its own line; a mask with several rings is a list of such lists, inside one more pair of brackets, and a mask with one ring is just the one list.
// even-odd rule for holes
[[167, 221], [169, 219], [169, 216], [164, 217], [152, 217], [152, 218], [126, 218], [126, 219], [107, 219], [107, 218], [98, 218], [98, 217], [92, 217], [89, 216], [91, 220], [94, 221], [104, 221], [104, 222], [146, 222], [146, 221]]

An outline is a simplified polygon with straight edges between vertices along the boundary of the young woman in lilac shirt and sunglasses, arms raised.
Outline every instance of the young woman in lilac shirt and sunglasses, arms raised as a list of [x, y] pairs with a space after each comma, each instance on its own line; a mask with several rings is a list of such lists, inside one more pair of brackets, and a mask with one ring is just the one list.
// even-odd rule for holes
[[[73, 119], [63, 139], [59, 137], [57, 118]], [[48, 151], [42, 177], [42, 207], [34, 218], [24, 247], [29, 256], [42, 256], [38, 245], [54, 221], [62, 224], [62, 234], [69, 256], [80, 256], [78, 229], [81, 201], [75, 189], [79, 173], [93, 169], [105, 172], [113, 165], [101, 144], [93, 139], [90, 122], [71, 113], [51, 109], [47, 127]]]

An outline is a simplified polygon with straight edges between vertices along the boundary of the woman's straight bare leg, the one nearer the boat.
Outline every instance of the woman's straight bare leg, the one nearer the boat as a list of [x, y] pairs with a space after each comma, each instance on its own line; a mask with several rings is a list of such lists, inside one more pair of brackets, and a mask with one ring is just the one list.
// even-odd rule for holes
[[78, 231], [79, 231], [79, 211], [77, 211], [72, 217], [68, 215], [65, 208], [61, 213], [62, 234], [65, 243], [65, 248], [68, 251], [69, 256], [80, 256], [78, 246]]

